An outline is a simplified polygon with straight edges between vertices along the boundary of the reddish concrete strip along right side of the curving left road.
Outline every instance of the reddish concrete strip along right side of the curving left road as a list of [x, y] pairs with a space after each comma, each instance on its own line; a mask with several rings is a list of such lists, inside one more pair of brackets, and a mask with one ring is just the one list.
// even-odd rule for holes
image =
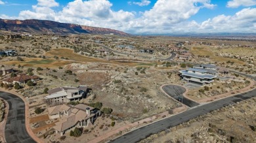
[[26, 102], [26, 99], [24, 99], [24, 97], [22, 95], [14, 92], [14, 91], [7, 91], [6, 89], [3, 89], [3, 88], [0, 88], [0, 91], [11, 93], [13, 95], [20, 97], [20, 99], [22, 99], [22, 101], [25, 104], [25, 125], [26, 125], [26, 130], [28, 132], [28, 135], [30, 135], [30, 137], [32, 137], [33, 140], [35, 140], [35, 142], [43, 143], [43, 140], [41, 140], [35, 134], [33, 134], [33, 131], [30, 128], [30, 118], [28, 118], [29, 117], [29, 107], [28, 107], [28, 103]]

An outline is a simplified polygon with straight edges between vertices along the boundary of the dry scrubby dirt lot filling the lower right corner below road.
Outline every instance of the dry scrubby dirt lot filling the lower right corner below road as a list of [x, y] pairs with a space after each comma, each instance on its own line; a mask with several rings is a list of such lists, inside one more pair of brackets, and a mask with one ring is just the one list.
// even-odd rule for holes
[[256, 98], [226, 106], [141, 142], [256, 142]]

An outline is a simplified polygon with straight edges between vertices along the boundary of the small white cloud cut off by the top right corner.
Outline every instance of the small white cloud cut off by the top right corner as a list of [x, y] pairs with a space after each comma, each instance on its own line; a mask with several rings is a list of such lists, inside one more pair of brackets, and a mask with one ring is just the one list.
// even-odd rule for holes
[[228, 1], [226, 7], [237, 8], [240, 6], [250, 7], [256, 5], [256, 0], [231, 0]]

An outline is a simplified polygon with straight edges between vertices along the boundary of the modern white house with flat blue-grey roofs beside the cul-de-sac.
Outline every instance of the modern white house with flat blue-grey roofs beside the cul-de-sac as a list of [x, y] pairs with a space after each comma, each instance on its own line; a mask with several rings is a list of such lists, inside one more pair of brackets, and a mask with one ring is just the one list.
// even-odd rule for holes
[[200, 85], [210, 84], [214, 82], [214, 78], [217, 78], [216, 75], [207, 73], [205, 69], [189, 68], [179, 72], [183, 80]]

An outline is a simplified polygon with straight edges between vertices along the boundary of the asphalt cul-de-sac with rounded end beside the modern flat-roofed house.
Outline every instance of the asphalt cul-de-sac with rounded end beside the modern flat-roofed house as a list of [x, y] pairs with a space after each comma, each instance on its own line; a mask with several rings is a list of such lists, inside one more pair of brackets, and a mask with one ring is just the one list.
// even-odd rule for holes
[[163, 91], [165, 91], [169, 96], [173, 97], [177, 101], [180, 101], [183, 104], [186, 104], [186, 106], [194, 107], [199, 105], [198, 103], [194, 101], [190, 101], [189, 99], [183, 97], [182, 94], [186, 91], [184, 87], [176, 86], [176, 85], [167, 85], [167, 86], [163, 86]]

